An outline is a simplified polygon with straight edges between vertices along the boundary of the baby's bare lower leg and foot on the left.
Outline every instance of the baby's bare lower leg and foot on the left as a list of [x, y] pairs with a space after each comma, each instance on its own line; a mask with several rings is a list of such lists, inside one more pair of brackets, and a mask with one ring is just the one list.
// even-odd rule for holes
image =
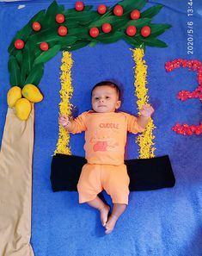
[[101, 213], [101, 224], [105, 227], [107, 223], [108, 213], [110, 207], [105, 204], [100, 197], [95, 197], [94, 200], [87, 202], [89, 206], [94, 207], [95, 209], [99, 209]]

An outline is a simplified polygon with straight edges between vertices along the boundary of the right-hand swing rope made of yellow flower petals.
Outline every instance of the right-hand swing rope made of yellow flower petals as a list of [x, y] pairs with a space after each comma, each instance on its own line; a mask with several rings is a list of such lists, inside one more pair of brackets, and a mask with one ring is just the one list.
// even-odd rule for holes
[[[138, 110], [142, 109], [143, 105], [149, 105], [149, 96], [147, 95], [148, 89], [147, 84], [147, 66], [145, 64], [144, 50], [140, 48], [132, 49], [132, 57], [135, 61], [136, 66], [134, 67], [134, 86], [136, 89], [135, 95], [138, 97]], [[139, 148], [139, 158], [148, 159], [155, 157], [155, 147], [152, 147], [155, 143], [153, 140], [153, 129], [155, 125], [153, 120], [150, 121], [142, 134], [138, 135], [137, 142]]]

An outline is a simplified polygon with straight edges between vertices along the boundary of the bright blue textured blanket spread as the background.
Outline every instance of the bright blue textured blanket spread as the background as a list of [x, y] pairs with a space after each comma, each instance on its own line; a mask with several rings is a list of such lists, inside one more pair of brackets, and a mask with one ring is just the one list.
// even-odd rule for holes
[[[52, 1], [0, 3], [0, 138], [7, 110], [9, 90], [7, 47], [36, 12], [46, 9]], [[148, 65], [150, 103], [156, 129], [156, 156], [168, 154], [174, 169], [173, 189], [132, 192], [129, 206], [117, 222], [113, 234], [105, 235], [99, 213], [77, 203], [77, 192], [52, 193], [50, 170], [52, 153], [58, 140], [58, 103], [60, 102], [60, 66], [62, 53], [48, 61], [40, 89], [45, 95], [35, 104], [35, 140], [33, 165], [32, 246], [36, 256], [199, 256], [202, 255], [202, 158], [201, 135], [175, 134], [176, 122], [199, 124], [202, 120], [199, 99], [181, 102], [177, 93], [194, 91], [198, 86], [196, 72], [176, 69], [166, 72], [164, 64], [173, 59], [202, 61], [202, 4], [193, 0], [193, 17], [187, 16], [188, 1], [152, 1], [164, 8], [154, 18], [156, 23], [170, 23], [160, 36], [167, 48], [147, 47], [144, 59]], [[74, 1], [65, 3], [73, 7]], [[84, 1], [113, 5], [116, 1]], [[18, 9], [19, 4], [25, 7]], [[187, 22], [193, 22], [193, 55], [187, 54]], [[90, 88], [103, 79], [113, 78], [124, 91], [122, 110], [137, 114], [134, 97], [132, 52], [124, 41], [110, 45], [84, 47], [72, 53], [72, 103], [80, 114], [90, 108]], [[84, 155], [83, 134], [70, 138], [73, 154]], [[138, 157], [135, 136], [130, 134], [125, 158]], [[110, 198], [104, 193], [108, 203]]]

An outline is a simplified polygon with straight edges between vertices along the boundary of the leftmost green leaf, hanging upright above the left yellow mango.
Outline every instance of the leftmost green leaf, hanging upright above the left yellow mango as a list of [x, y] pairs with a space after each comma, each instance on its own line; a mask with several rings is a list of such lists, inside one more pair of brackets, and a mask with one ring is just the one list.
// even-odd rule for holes
[[15, 56], [9, 56], [9, 83], [11, 86], [21, 86], [21, 74], [20, 74], [20, 66], [15, 59]]

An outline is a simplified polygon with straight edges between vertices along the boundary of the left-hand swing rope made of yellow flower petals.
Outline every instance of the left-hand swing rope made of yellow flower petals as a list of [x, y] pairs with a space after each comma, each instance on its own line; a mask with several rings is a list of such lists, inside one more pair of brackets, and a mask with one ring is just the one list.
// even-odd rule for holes
[[[60, 98], [61, 102], [59, 103], [59, 112], [61, 115], [71, 116], [72, 104], [70, 103], [70, 98], [72, 97], [73, 87], [71, 84], [71, 67], [73, 64], [73, 60], [71, 59], [71, 53], [63, 52], [62, 58], [62, 66], [60, 67], [62, 74], [60, 76], [61, 80], [61, 90]], [[59, 126], [59, 134], [58, 134], [58, 143], [57, 148], [54, 152], [63, 153], [63, 154], [71, 154], [70, 152], [70, 134], [65, 131], [64, 128]]]

